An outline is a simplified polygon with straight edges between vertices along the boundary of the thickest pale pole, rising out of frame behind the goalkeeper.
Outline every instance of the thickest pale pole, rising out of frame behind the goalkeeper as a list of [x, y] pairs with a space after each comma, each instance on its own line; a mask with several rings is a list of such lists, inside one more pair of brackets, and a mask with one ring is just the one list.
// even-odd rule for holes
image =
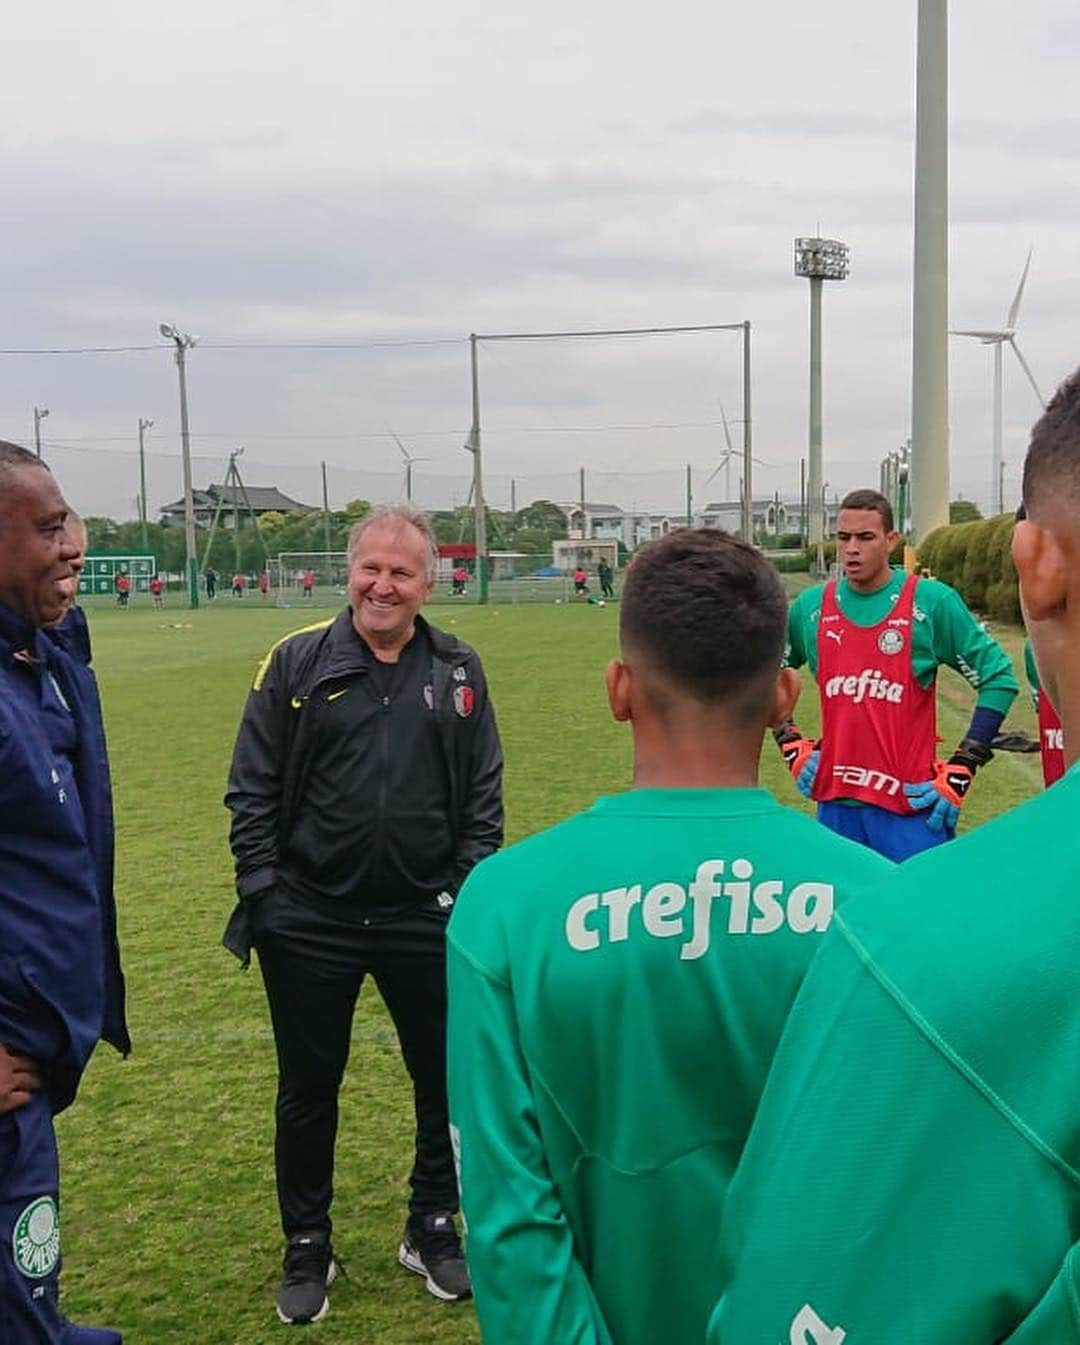
[[948, 523], [948, 0], [919, 0], [909, 541]]

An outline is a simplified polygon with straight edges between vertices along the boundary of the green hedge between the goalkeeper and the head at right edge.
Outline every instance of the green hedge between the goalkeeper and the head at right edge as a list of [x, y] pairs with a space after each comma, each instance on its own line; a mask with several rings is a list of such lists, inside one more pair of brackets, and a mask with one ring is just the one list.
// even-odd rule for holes
[[1013, 515], [1001, 514], [937, 527], [919, 543], [919, 565], [951, 584], [972, 611], [998, 621], [1019, 621], [1013, 526]]

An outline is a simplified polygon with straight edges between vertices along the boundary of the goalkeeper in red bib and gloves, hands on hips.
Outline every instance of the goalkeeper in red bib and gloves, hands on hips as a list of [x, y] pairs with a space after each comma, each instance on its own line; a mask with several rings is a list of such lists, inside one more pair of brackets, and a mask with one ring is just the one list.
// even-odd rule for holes
[[[800, 593], [788, 615], [788, 667], [810, 666], [822, 736], [776, 730], [802, 794], [833, 831], [902, 861], [956, 834], [956, 819], [990, 742], [1019, 690], [1013, 666], [960, 594], [892, 569], [900, 541], [877, 491], [851, 491], [837, 515], [843, 576]], [[976, 691], [971, 725], [936, 760], [937, 668]]]

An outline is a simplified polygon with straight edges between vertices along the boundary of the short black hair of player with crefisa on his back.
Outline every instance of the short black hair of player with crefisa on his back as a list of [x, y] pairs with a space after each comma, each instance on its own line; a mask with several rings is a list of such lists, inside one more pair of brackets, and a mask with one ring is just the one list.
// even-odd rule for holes
[[703, 705], [763, 716], [784, 652], [780, 576], [746, 542], [681, 527], [643, 546], [623, 585], [619, 633], [671, 689]]

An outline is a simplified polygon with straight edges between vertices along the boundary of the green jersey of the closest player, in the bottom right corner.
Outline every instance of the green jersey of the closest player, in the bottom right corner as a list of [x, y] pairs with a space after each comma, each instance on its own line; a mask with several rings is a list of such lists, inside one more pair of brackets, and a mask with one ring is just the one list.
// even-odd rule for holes
[[1079, 812], [1073, 767], [837, 917], [718, 1210], [709, 1345], [1080, 1342]]

